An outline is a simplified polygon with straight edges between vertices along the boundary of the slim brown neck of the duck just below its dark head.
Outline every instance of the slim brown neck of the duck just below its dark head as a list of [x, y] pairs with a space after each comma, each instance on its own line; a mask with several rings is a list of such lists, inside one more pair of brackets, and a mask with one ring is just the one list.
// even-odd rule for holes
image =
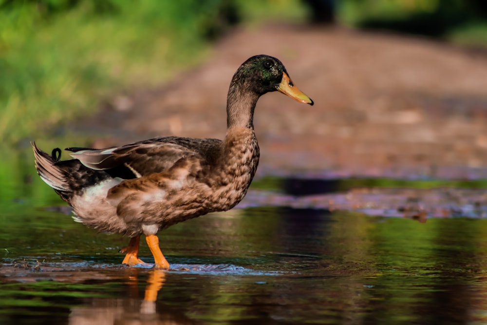
[[232, 80], [226, 101], [226, 127], [254, 128], [254, 109], [260, 95], [249, 91], [242, 81]]

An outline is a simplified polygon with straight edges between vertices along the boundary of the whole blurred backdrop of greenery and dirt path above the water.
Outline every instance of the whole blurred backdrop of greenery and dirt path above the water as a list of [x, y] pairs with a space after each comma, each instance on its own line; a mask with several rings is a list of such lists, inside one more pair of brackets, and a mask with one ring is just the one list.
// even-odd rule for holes
[[487, 178], [484, 1], [1, 0], [2, 181], [42, 189], [32, 140], [223, 138], [231, 76], [262, 53], [316, 104], [262, 97], [257, 177]]

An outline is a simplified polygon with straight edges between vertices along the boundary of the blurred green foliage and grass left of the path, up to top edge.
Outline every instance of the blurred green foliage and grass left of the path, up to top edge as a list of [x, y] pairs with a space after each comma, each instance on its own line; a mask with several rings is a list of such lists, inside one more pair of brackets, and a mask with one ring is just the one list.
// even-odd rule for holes
[[298, 0], [0, 0], [0, 138], [52, 132], [94, 112], [103, 97], [193, 67], [208, 55], [209, 41], [241, 19], [297, 17], [299, 6]]

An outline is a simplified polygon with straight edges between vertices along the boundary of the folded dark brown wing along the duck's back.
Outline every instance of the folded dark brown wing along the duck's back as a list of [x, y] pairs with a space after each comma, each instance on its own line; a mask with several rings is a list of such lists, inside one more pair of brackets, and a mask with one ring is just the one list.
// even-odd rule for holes
[[164, 172], [185, 157], [207, 160], [206, 155], [217, 148], [217, 139], [156, 138], [106, 149], [66, 148], [70, 155], [94, 170], [125, 167], [135, 177]]

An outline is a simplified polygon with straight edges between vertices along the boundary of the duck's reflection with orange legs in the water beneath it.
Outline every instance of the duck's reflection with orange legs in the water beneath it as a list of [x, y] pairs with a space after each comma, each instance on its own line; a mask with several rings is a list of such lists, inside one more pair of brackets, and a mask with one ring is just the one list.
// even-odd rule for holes
[[166, 282], [167, 272], [149, 270], [144, 298], [139, 297], [138, 277], [145, 269], [127, 269], [127, 298], [91, 298], [83, 307], [75, 307], [69, 316], [70, 325], [137, 325], [137, 324], [197, 324], [185, 315], [171, 310], [157, 310], [156, 301], [159, 290]]

